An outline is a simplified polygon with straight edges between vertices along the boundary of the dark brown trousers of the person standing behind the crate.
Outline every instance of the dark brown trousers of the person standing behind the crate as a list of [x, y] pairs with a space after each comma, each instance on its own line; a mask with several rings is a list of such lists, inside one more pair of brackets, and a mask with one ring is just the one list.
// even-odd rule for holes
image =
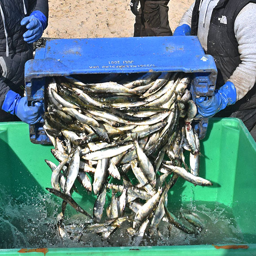
[[141, 0], [139, 15], [135, 18], [134, 35], [137, 36], [170, 36], [168, 21], [169, 0]]

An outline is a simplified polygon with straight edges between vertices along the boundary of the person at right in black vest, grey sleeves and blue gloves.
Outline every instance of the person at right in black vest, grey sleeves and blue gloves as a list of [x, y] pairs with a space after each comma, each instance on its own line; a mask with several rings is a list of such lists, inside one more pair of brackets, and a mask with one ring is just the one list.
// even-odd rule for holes
[[256, 0], [195, 0], [174, 36], [196, 35], [218, 71], [214, 95], [195, 103], [203, 117], [243, 121], [256, 140]]

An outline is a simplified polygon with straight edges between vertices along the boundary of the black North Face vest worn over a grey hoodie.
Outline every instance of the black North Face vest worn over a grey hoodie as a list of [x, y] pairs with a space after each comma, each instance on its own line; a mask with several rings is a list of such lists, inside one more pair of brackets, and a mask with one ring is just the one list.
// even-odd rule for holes
[[[256, 3], [256, 0], [220, 0], [212, 11], [212, 17], [207, 38], [207, 54], [214, 57], [218, 75], [216, 88], [220, 88], [233, 74], [241, 63], [238, 52], [238, 42], [234, 34], [234, 21], [238, 13], [248, 3]], [[191, 35], [197, 35], [199, 23], [200, 0], [195, 1]], [[256, 86], [254, 86], [243, 99], [225, 109], [235, 111], [256, 108]]]

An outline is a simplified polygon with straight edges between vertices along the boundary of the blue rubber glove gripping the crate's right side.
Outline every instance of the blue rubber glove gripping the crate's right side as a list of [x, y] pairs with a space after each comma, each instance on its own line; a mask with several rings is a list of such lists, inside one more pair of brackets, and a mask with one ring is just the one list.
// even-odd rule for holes
[[220, 89], [215, 90], [214, 95], [208, 97], [199, 97], [195, 99], [198, 113], [203, 117], [212, 117], [226, 106], [236, 102], [236, 89], [230, 81], [226, 82]]

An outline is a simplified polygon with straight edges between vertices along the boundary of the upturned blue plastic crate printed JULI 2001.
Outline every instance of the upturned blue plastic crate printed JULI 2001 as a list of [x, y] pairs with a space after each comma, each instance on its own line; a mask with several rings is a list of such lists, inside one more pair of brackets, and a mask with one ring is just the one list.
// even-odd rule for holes
[[[191, 73], [192, 97], [212, 96], [217, 70], [211, 55], [205, 55], [197, 36], [56, 39], [37, 49], [25, 64], [29, 104], [44, 102], [52, 76], [143, 72]], [[201, 137], [207, 119], [200, 122]], [[30, 125], [31, 141], [49, 144], [42, 124]]]

